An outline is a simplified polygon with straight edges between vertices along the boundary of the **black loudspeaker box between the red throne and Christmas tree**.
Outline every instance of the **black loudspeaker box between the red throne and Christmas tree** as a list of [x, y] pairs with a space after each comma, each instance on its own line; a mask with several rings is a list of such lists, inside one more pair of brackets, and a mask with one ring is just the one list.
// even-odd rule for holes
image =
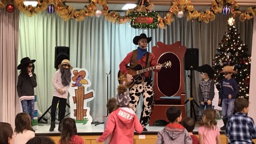
[[185, 53], [185, 70], [198, 68], [198, 49], [187, 49]]

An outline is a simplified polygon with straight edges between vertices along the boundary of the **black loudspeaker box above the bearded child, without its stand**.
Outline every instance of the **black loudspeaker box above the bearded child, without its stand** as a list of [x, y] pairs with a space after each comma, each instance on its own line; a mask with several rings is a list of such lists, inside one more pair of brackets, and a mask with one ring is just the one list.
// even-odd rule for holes
[[54, 57], [54, 68], [59, 69], [62, 60], [69, 60], [69, 47], [67, 46], [56, 46], [55, 47], [55, 57]]

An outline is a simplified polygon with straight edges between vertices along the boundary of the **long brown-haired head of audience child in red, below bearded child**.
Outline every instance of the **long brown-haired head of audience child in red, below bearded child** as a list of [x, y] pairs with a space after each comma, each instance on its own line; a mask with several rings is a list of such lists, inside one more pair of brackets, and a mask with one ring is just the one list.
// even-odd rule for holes
[[71, 137], [73, 135], [76, 135], [77, 129], [76, 129], [76, 122], [73, 118], [65, 118], [62, 121], [62, 129], [60, 133], [60, 143], [66, 144], [69, 143]]

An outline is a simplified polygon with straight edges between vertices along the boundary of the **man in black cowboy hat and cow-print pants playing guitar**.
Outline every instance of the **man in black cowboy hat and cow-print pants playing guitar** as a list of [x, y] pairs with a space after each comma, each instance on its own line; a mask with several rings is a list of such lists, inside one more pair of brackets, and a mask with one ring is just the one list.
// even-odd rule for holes
[[[147, 51], [147, 46], [151, 39], [152, 38], [147, 37], [146, 34], [135, 36], [133, 38], [133, 44], [138, 45], [137, 50], [128, 53], [124, 60], [119, 64], [119, 69], [125, 75], [128, 82], [133, 81], [132, 75], [130, 75], [129, 71], [126, 69], [126, 66], [129, 65], [129, 63], [131, 67], [135, 67], [138, 64], [142, 65], [144, 68], [157, 66], [155, 55]], [[158, 72], [160, 69], [161, 66], [158, 65], [154, 71]], [[144, 127], [143, 131], [147, 131], [146, 125], [149, 122], [152, 112], [155, 92], [151, 80], [151, 71], [146, 71], [142, 75], [145, 80], [142, 82], [135, 82], [135, 84], [130, 87], [130, 107], [136, 111], [140, 95], [143, 94], [143, 111], [140, 116], [140, 123]]]

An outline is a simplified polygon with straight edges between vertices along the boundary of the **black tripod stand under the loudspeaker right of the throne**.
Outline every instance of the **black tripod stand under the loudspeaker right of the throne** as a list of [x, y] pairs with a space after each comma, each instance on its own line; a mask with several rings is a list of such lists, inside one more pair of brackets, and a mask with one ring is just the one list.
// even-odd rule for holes
[[196, 110], [195, 110], [195, 106], [194, 104], [197, 106], [197, 108], [199, 108], [198, 103], [195, 101], [195, 99], [193, 98], [193, 74], [192, 74], [193, 70], [190, 70], [190, 75], [188, 75], [188, 77], [190, 78], [190, 98], [188, 98], [185, 101], [185, 105], [188, 101], [190, 101], [190, 117], [192, 117], [193, 112], [194, 112], [194, 117], [195, 117], [195, 121], [197, 121], [197, 116], [196, 116]]

